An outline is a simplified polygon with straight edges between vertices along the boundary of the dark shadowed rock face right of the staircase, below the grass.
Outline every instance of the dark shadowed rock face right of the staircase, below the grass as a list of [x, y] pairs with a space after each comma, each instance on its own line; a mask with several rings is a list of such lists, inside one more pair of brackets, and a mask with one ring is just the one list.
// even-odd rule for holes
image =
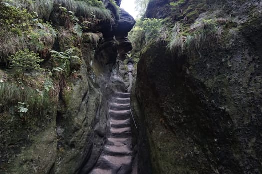
[[153, 174], [261, 173], [261, 4], [256, 17], [245, 7], [234, 3], [229, 14], [243, 20], [234, 19], [218, 42], [208, 40], [190, 56], [168, 52], [165, 42], [141, 55], [132, 105], [143, 113], [137, 144], [140, 152], [149, 146]]

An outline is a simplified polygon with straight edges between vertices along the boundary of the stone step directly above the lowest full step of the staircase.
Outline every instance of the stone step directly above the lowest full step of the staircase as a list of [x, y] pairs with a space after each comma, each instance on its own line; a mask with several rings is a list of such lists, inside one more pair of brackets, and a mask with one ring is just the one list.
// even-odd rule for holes
[[123, 146], [106, 145], [104, 147], [103, 153], [106, 155], [113, 155], [113, 156], [132, 155], [132, 151], [127, 145], [123, 145]]

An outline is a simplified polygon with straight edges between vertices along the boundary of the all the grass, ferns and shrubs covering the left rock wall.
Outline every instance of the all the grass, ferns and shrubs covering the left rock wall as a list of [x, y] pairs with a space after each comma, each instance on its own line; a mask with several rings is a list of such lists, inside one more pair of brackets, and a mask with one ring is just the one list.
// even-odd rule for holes
[[[72, 24], [59, 28], [59, 33], [47, 22], [54, 8], [59, 8], [60, 16]], [[119, 9], [117, 5], [115, 8]], [[64, 86], [57, 85], [58, 79], [52, 79], [51, 71], [48, 74], [42, 70], [69, 76], [70, 66], [78, 68], [73, 63], [79, 57], [74, 55], [75, 49], [67, 48], [80, 46], [83, 30], [91, 24], [111, 21], [111, 12], [100, 0], [0, 0], [0, 9], [0, 66], [6, 68], [8, 74], [6, 79], [0, 79], [0, 113], [17, 115], [23, 120], [43, 116], [54, 101], [54, 95]], [[65, 43], [67, 48], [59, 43], [63, 52], [52, 51], [56, 35], [62, 36], [63, 31], [70, 33], [68, 37], [72, 37], [73, 42], [77, 41]], [[94, 42], [100, 38], [97, 34], [88, 37]], [[48, 62], [50, 57], [54, 64]], [[46, 69], [39, 65], [43, 60], [46, 60], [42, 64]], [[61, 79], [65, 81], [64, 77]]]

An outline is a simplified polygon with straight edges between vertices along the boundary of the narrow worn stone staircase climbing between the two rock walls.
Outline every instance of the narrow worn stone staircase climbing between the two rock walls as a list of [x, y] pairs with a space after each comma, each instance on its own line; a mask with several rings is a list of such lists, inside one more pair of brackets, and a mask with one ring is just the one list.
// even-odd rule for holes
[[130, 93], [116, 92], [109, 110], [110, 131], [89, 174], [130, 174], [132, 171]]

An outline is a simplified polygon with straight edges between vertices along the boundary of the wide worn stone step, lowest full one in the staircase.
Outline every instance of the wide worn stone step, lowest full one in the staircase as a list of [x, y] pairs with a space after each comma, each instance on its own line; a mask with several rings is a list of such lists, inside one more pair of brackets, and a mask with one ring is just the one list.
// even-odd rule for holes
[[101, 155], [96, 165], [97, 168], [100, 169], [111, 169], [115, 171], [120, 167], [125, 167], [130, 165], [132, 166], [132, 156]]

